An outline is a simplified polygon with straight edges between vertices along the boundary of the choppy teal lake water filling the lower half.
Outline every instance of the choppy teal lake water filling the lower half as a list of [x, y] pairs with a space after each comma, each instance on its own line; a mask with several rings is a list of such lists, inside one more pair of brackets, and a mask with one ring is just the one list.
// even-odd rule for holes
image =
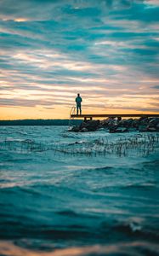
[[156, 133], [1, 126], [1, 255], [157, 255]]

